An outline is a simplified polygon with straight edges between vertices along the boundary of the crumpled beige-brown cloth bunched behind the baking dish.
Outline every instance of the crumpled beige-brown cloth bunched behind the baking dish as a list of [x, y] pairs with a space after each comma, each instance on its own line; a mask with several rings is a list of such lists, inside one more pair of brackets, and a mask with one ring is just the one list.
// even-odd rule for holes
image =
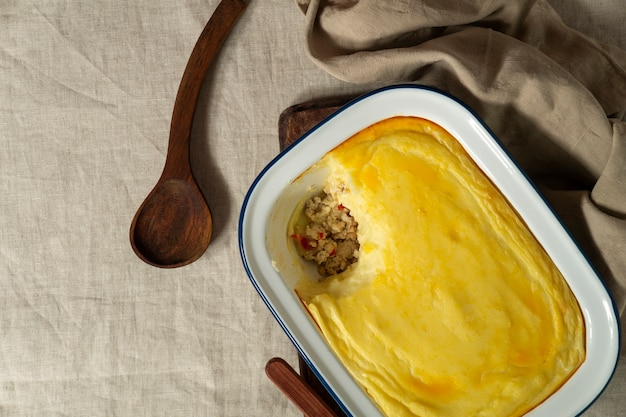
[[540, 187], [626, 321], [624, 50], [567, 27], [545, 0], [296, 3], [307, 52], [333, 76], [425, 84], [475, 110]]

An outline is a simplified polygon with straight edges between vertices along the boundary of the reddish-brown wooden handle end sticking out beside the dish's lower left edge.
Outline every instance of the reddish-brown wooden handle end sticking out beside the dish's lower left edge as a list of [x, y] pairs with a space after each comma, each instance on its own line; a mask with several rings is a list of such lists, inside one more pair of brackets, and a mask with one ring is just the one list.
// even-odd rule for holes
[[305, 416], [336, 417], [330, 407], [284, 359], [270, 359], [265, 365], [265, 373]]

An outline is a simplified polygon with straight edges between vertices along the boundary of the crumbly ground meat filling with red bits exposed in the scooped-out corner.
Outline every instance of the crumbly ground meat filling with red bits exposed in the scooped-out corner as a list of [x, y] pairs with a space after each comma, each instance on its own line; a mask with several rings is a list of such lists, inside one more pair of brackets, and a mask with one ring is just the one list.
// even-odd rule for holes
[[304, 230], [296, 228], [291, 237], [300, 255], [317, 263], [322, 276], [343, 272], [358, 260], [357, 222], [347, 207], [322, 192], [306, 201], [304, 215]]

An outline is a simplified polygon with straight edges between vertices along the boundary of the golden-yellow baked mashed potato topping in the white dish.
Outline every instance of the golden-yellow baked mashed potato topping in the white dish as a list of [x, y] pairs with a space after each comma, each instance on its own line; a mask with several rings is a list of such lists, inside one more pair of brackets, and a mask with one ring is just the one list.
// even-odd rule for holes
[[359, 257], [296, 291], [384, 414], [520, 416], [578, 368], [565, 279], [445, 130], [387, 119], [319, 164], [358, 222]]

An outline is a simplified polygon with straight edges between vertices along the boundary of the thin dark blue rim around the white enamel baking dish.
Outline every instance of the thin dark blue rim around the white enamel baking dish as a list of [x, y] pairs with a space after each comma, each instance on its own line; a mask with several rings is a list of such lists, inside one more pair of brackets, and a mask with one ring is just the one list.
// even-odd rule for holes
[[259, 172], [259, 174], [256, 176], [256, 178], [254, 179], [254, 181], [252, 182], [252, 184], [250, 185], [250, 187], [248, 188], [248, 191], [246, 192], [246, 195], [244, 197], [243, 203], [241, 205], [241, 211], [239, 214], [239, 222], [238, 222], [238, 231], [237, 231], [237, 238], [238, 238], [238, 243], [239, 243], [239, 254], [241, 256], [241, 260], [243, 263], [243, 267], [246, 271], [246, 274], [248, 275], [248, 278], [250, 279], [250, 282], [252, 283], [252, 285], [254, 286], [255, 290], [257, 291], [257, 293], [259, 294], [259, 296], [261, 297], [261, 299], [263, 300], [263, 303], [266, 305], [266, 307], [268, 308], [268, 310], [271, 312], [271, 314], [274, 316], [274, 319], [278, 322], [278, 324], [280, 325], [280, 327], [283, 329], [283, 332], [287, 335], [287, 337], [289, 338], [289, 340], [291, 341], [291, 343], [294, 345], [295, 349], [297, 350], [298, 354], [302, 357], [302, 359], [304, 359], [305, 363], [307, 364], [307, 366], [309, 367], [309, 369], [313, 372], [313, 374], [316, 376], [316, 378], [320, 381], [320, 383], [322, 384], [322, 386], [324, 387], [324, 389], [330, 394], [330, 396], [333, 398], [333, 400], [339, 405], [339, 407], [344, 411], [345, 414], [347, 414], [348, 416], [353, 416], [352, 413], [350, 413], [350, 411], [347, 409], [346, 405], [343, 403], [343, 401], [341, 401], [341, 399], [339, 399], [334, 390], [328, 385], [328, 383], [326, 382], [325, 378], [321, 375], [321, 373], [319, 372], [319, 370], [317, 369], [317, 367], [315, 365], [313, 365], [313, 363], [311, 362], [310, 358], [308, 357], [308, 355], [304, 352], [304, 350], [302, 349], [302, 347], [300, 346], [300, 344], [297, 342], [297, 340], [295, 339], [295, 337], [291, 334], [291, 332], [289, 331], [289, 329], [287, 328], [287, 326], [285, 325], [285, 323], [283, 322], [283, 320], [281, 320], [280, 315], [275, 311], [275, 309], [272, 307], [272, 304], [270, 303], [270, 301], [267, 299], [267, 297], [265, 296], [263, 290], [260, 288], [260, 286], [258, 285], [258, 283], [256, 282], [256, 279], [254, 278], [254, 274], [252, 273], [252, 271], [250, 270], [250, 267], [248, 266], [248, 261], [246, 258], [246, 252], [244, 250], [244, 244], [243, 244], [243, 220], [245, 217], [245, 212], [246, 212], [246, 208], [248, 206], [248, 202], [250, 199], [250, 196], [252, 195], [252, 193], [254, 192], [258, 182], [261, 180], [261, 178], [263, 178], [265, 176], [265, 174], [267, 173], [267, 171], [269, 171], [272, 166], [274, 164], [276, 164], [276, 162], [278, 160], [280, 160], [281, 158], [283, 158], [285, 156], [285, 154], [287, 154], [293, 147], [295, 147], [298, 143], [302, 142], [303, 140], [305, 140], [308, 136], [310, 136], [311, 134], [313, 134], [313, 132], [315, 132], [316, 130], [318, 130], [322, 125], [328, 123], [329, 120], [335, 118], [336, 116], [338, 116], [341, 112], [343, 112], [345, 109], [353, 106], [354, 104], [367, 99], [370, 96], [376, 95], [378, 93], [382, 93], [384, 91], [389, 91], [389, 90], [396, 90], [396, 89], [416, 89], [416, 90], [425, 90], [425, 91], [430, 91], [430, 92], [434, 92], [437, 94], [440, 94], [444, 97], [447, 97], [448, 99], [456, 102], [457, 104], [459, 104], [460, 106], [462, 106], [463, 108], [465, 108], [465, 110], [467, 110], [469, 113], [472, 114], [472, 116], [482, 125], [482, 127], [484, 129], [487, 130], [487, 132], [491, 135], [491, 137], [494, 139], [494, 141], [498, 144], [498, 146], [500, 147], [500, 149], [506, 154], [506, 156], [509, 158], [509, 160], [511, 162], [513, 162], [515, 164], [515, 166], [519, 169], [519, 171], [521, 172], [521, 174], [524, 176], [524, 179], [533, 187], [533, 189], [535, 190], [535, 192], [537, 193], [537, 195], [539, 195], [542, 199], [542, 201], [544, 202], [544, 204], [546, 205], [546, 207], [548, 207], [548, 209], [551, 211], [551, 213], [553, 214], [554, 218], [559, 222], [559, 224], [563, 227], [563, 229], [565, 230], [565, 232], [567, 233], [567, 235], [569, 236], [569, 238], [571, 239], [572, 242], [574, 242], [574, 244], [576, 245], [576, 247], [578, 248], [579, 252], [582, 254], [582, 256], [584, 257], [585, 261], [590, 265], [590, 267], [593, 269], [594, 273], [596, 274], [596, 276], [598, 277], [598, 281], [600, 281], [600, 283], [602, 284], [602, 286], [604, 287], [604, 289], [606, 290], [606, 293], [608, 294], [608, 298], [611, 300], [611, 306], [613, 308], [613, 314], [615, 316], [616, 319], [616, 326], [618, 329], [617, 332], [617, 360], [615, 361], [615, 364], [613, 366], [613, 370], [611, 372], [611, 375], [607, 378], [606, 383], [604, 384], [604, 386], [602, 387], [601, 390], [598, 391], [598, 394], [595, 396], [595, 398], [593, 400], [591, 400], [589, 402], [589, 404], [583, 409], [581, 410], [581, 412], [579, 414], [577, 414], [577, 416], [581, 416], [585, 413], [585, 411], [587, 411], [597, 400], [598, 398], [600, 398], [600, 396], [602, 395], [602, 393], [606, 390], [606, 387], [609, 385], [610, 381], [613, 379], [613, 376], [615, 375], [615, 371], [617, 369], [617, 365], [619, 362], [619, 357], [621, 355], [621, 345], [622, 345], [622, 334], [621, 331], [619, 331], [619, 329], [621, 328], [621, 323], [620, 323], [620, 316], [619, 316], [619, 311], [617, 309], [617, 305], [615, 304], [615, 300], [608, 288], [608, 286], [606, 285], [606, 283], [604, 282], [603, 279], [601, 279], [600, 274], [598, 273], [597, 269], [595, 268], [595, 266], [590, 262], [589, 257], [587, 256], [587, 254], [582, 250], [582, 247], [580, 246], [580, 244], [578, 243], [578, 241], [574, 238], [574, 236], [572, 236], [571, 232], [569, 231], [569, 229], [567, 227], [565, 227], [565, 224], [563, 223], [563, 221], [561, 220], [561, 217], [556, 213], [556, 211], [554, 210], [554, 208], [548, 203], [547, 199], [545, 198], [545, 196], [541, 193], [541, 191], [538, 189], [538, 187], [535, 185], [534, 181], [532, 181], [528, 175], [526, 174], [526, 172], [519, 166], [519, 164], [517, 163], [517, 161], [512, 157], [512, 154], [509, 152], [509, 150], [504, 146], [504, 144], [502, 143], [502, 141], [500, 140], [500, 138], [498, 138], [498, 136], [496, 136], [494, 134], [494, 132], [491, 130], [491, 128], [489, 128], [489, 126], [487, 126], [487, 124], [482, 120], [482, 118], [471, 108], [469, 107], [467, 104], [465, 104], [464, 102], [462, 102], [461, 100], [459, 100], [458, 98], [456, 98], [455, 96], [453, 96], [450, 93], [447, 93], [443, 90], [434, 88], [434, 87], [430, 87], [430, 86], [426, 86], [426, 85], [421, 85], [421, 84], [394, 84], [394, 85], [389, 85], [386, 87], [381, 87], [381, 88], [377, 88], [375, 90], [372, 90], [368, 93], [364, 93], [363, 95], [360, 95], [358, 97], [356, 97], [353, 100], [350, 100], [348, 103], [346, 103], [345, 105], [341, 106], [339, 109], [337, 109], [335, 112], [333, 112], [332, 114], [330, 114], [329, 116], [325, 117], [324, 119], [322, 119], [319, 123], [317, 123], [313, 128], [311, 128], [309, 131], [307, 131], [306, 133], [304, 133], [302, 136], [300, 136], [297, 140], [295, 140], [293, 143], [291, 143], [289, 146], [287, 146], [284, 150], [282, 150], [278, 155], [276, 155], [262, 170], [261, 172]]

